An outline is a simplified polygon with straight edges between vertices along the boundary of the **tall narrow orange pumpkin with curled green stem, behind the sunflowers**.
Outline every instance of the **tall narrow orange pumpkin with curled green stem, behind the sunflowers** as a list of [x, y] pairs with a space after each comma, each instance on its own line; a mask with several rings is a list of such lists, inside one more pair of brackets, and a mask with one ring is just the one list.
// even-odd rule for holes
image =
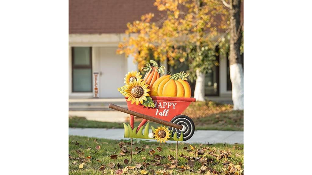
[[149, 90], [151, 90], [154, 82], [160, 77], [160, 73], [164, 74], [165, 67], [163, 65], [158, 67], [157, 62], [154, 60], [150, 60], [149, 62], [152, 63], [153, 65], [145, 64], [143, 70], [147, 72], [143, 80], [145, 81], [145, 84], [149, 84], [148, 88]]

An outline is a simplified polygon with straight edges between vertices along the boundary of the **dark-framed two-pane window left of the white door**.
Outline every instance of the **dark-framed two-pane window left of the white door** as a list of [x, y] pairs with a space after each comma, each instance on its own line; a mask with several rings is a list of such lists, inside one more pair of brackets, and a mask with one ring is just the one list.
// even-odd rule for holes
[[72, 47], [72, 92], [92, 92], [91, 47]]

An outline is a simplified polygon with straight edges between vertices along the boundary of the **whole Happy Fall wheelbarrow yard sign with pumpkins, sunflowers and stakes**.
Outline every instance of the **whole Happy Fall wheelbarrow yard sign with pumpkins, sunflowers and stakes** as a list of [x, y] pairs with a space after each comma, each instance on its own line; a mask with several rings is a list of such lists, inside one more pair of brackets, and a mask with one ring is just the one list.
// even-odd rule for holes
[[[176, 141], [176, 157], [178, 159], [178, 141], [190, 139], [195, 131], [191, 118], [181, 115], [183, 111], [195, 102], [191, 98], [191, 87], [186, 81], [188, 73], [180, 72], [164, 74], [164, 66], [151, 60], [146, 64], [144, 78], [140, 72], [131, 71], [124, 78], [125, 85], [117, 88], [125, 96], [128, 109], [110, 104], [109, 107], [117, 111], [130, 114], [129, 124], [124, 123], [124, 137], [132, 139], [152, 139], [158, 142]], [[143, 120], [134, 126], [134, 116]], [[161, 126], [154, 128], [147, 121], [154, 121]], [[144, 130], [143, 130], [144, 129]], [[178, 165], [178, 161], [176, 161]]]

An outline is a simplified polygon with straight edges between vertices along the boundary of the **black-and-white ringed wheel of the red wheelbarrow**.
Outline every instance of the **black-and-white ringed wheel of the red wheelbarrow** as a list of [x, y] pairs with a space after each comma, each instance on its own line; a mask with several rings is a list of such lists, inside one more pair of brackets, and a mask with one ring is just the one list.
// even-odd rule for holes
[[169, 130], [172, 130], [172, 136], [175, 132], [177, 132], [177, 137], [180, 138], [181, 133], [183, 132], [183, 141], [189, 140], [193, 136], [195, 132], [195, 125], [190, 117], [185, 115], [178, 115], [173, 117], [170, 122], [183, 126], [182, 130], [169, 127]]

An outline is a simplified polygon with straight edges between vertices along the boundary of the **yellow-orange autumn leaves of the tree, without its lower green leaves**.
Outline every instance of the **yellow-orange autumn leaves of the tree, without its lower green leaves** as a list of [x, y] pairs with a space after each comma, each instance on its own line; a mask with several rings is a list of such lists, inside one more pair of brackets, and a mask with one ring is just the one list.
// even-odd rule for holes
[[166, 16], [152, 22], [154, 13], [148, 13], [142, 15], [140, 21], [128, 22], [125, 33], [129, 36], [119, 43], [116, 53], [132, 54], [138, 69], [142, 70], [150, 59], [168, 58], [170, 65], [175, 64], [175, 60], [185, 61], [192, 50], [182, 49], [181, 45], [199, 43], [214, 49], [212, 39], [229, 26], [228, 11], [220, 0], [202, 0], [201, 7], [195, 2], [155, 0], [154, 6], [165, 11]]

